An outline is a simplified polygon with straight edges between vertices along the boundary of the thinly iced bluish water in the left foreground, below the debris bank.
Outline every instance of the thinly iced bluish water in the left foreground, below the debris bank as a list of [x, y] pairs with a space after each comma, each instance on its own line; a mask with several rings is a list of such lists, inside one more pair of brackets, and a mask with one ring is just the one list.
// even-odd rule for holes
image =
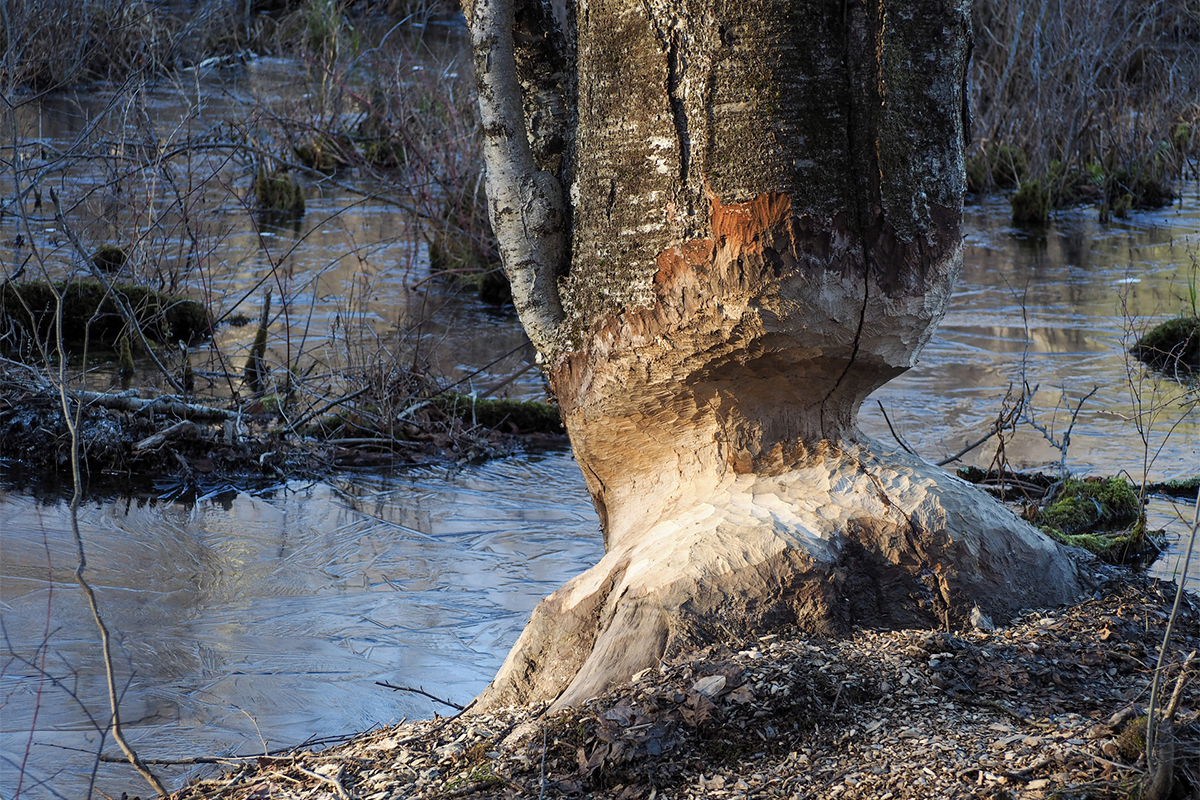
[[[88, 715], [103, 726], [107, 706], [67, 505], [10, 493], [0, 510], [0, 796], [30, 742], [23, 796], [80, 796], [98, 742]], [[89, 503], [80, 529], [122, 717], [146, 758], [254, 753], [445, 712], [374, 681], [467, 702], [533, 606], [601, 554], [565, 452], [194, 506]], [[143, 792], [115, 765], [100, 788]]]

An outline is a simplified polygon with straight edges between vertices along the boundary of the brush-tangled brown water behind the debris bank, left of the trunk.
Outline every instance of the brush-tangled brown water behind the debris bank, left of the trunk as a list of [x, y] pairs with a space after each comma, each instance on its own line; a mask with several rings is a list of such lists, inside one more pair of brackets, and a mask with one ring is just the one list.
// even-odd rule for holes
[[[466, 80], [454, 32], [427, 34], [424, 47], [422, 68], [436, 62]], [[181, 291], [223, 321], [214, 341], [191, 354], [202, 396], [228, 397], [236, 389], [230, 374], [245, 362], [268, 291], [268, 361], [306, 379], [301, 396], [344, 393], [364, 375], [388, 384], [409, 366], [446, 383], [473, 381], [468, 389], [517, 372], [530, 353], [511, 314], [464, 300], [472, 290], [452, 281], [430, 279], [428, 224], [406, 210], [413, 188], [403, 176], [374, 185], [304, 174], [301, 219], [272, 222], [254, 212], [252, 181], [263, 154], [293, 157], [280, 120], [331, 113], [314, 97], [317, 78], [295, 60], [262, 58], [151, 85], [22, 98], [0, 120], [0, 148], [20, 145], [12, 169], [0, 170], [0, 198], [25, 198], [22, 205], [0, 201], [0, 279], [18, 270], [25, 279], [88, 272], [42, 201], [53, 184], [88, 248], [128, 251], [122, 281]], [[364, 101], [349, 90], [364, 88], [343, 89], [340, 113], [356, 119]], [[112, 363], [79, 380], [91, 389], [119, 383]], [[154, 385], [161, 378], [146, 363], [137, 380]], [[530, 373], [508, 392], [542, 397], [545, 389]]]

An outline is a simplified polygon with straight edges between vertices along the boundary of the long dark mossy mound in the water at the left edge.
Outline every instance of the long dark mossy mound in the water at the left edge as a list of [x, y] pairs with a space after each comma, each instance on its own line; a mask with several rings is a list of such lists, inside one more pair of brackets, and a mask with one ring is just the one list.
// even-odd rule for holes
[[[113, 290], [133, 312], [142, 332], [160, 343], [198, 342], [209, 336], [208, 309], [194, 300], [148, 287], [114, 283]], [[54, 331], [58, 297], [62, 299], [62, 337], [115, 348], [128, 326], [116, 300], [98, 281], [28, 281], [0, 285], [0, 332], [34, 335], [48, 341]]]

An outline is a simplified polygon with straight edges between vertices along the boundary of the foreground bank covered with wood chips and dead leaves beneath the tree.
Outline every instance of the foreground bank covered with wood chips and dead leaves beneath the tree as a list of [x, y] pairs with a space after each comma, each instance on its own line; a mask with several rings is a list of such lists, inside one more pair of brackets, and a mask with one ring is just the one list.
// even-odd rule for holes
[[[468, 708], [319, 752], [226, 759], [232, 771], [172, 796], [1128, 798], [1174, 587], [1097, 569], [1094, 596], [997, 630], [781, 631], [682, 654], [580, 709]], [[1188, 599], [1168, 697], [1198, 637]], [[1193, 796], [1200, 692], [1190, 675], [1180, 686], [1176, 796]]]

